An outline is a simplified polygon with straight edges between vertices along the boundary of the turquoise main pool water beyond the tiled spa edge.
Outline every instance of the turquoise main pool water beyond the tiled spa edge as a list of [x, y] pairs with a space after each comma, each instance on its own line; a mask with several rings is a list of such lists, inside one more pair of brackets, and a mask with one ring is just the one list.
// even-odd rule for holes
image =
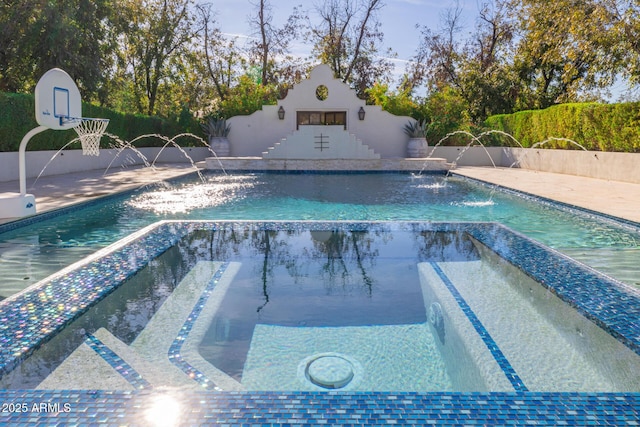
[[640, 286], [637, 228], [466, 179], [252, 173], [206, 180], [159, 183], [0, 233], [0, 298], [161, 219], [496, 221]]

